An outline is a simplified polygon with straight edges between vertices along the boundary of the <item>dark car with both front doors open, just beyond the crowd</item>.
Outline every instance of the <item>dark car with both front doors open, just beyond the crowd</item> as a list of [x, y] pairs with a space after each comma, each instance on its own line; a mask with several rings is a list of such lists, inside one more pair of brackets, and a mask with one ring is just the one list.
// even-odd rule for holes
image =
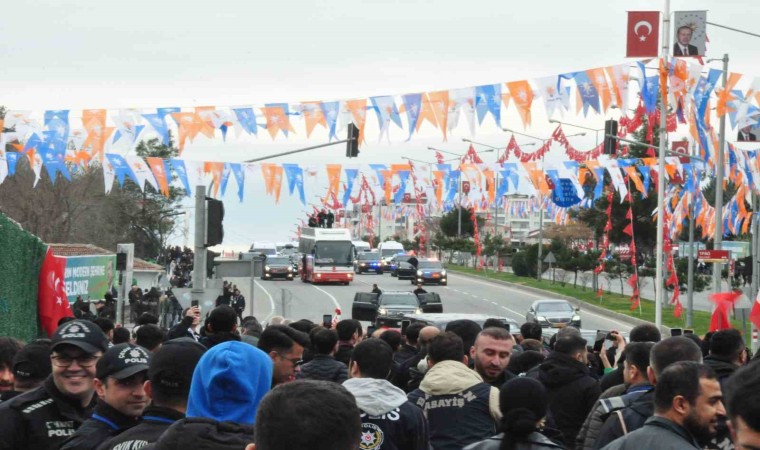
[[421, 295], [408, 291], [384, 291], [380, 295], [357, 292], [351, 307], [351, 318], [374, 322], [378, 317], [436, 312], [443, 312], [443, 306], [441, 298], [434, 292]]

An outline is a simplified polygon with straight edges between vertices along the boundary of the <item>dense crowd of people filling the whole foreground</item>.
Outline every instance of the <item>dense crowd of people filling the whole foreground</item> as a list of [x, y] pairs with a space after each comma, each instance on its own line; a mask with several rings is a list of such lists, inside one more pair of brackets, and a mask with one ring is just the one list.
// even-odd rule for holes
[[169, 328], [146, 312], [132, 333], [72, 317], [0, 338], [0, 450], [760, 448], [760, 366], [733, 329], [645, 324], [605, 349], [573, 327], [366, 336], [217, 303]]

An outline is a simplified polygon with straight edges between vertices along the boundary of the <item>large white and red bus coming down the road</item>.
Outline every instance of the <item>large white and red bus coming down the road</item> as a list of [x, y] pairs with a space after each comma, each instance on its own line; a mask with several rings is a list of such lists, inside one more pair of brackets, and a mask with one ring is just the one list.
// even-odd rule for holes
[[298, 241], [301, 281], [349, 284], [356, 250], [346, 228], [304, 228]]

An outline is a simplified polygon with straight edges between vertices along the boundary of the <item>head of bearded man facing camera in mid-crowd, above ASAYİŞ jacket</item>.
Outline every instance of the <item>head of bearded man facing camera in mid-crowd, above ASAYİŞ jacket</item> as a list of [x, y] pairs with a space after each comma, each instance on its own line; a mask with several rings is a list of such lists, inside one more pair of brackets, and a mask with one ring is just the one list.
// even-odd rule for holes
[[500, 388], [514, 377], [507, 372], [514, 346], [515, 340], [504, 328], [490, 327], [478, 334], [475, 345], [470, 348], [470, 358], [475, 362], [475, 371], [483, 381]]

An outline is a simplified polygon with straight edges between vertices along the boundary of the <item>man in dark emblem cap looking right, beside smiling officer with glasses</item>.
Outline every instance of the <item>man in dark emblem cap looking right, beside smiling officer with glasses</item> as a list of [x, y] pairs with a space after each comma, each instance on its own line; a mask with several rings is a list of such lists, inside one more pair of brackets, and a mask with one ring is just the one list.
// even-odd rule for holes
[[143, 384], [150, 352], [134, 344], [109, 348], [96, 365], [98, 404], [92, 417], [69, 437], [61, 450], [94, 450], [104, 441], [137, 425], [148, 406]]

